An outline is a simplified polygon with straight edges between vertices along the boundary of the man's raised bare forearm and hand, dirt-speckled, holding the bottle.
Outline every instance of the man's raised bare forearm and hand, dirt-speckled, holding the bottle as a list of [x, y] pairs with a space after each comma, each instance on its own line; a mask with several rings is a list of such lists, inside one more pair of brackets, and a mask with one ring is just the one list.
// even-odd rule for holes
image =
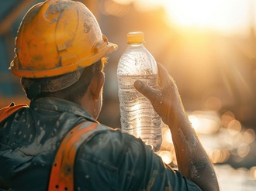
[[178, 88], [163, 65], [158, 63], [159, 89], [140, 81], [134, 86], [146, 96], [171, 130], [178, 169], [202, 190], [219, 190], [216, 173], [185, 113]]

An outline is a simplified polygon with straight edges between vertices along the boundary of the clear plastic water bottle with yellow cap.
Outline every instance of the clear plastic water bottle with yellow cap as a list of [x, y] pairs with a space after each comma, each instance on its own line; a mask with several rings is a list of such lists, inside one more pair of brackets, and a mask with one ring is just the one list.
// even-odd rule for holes
[[157, 152], [162, 142], [161, 118], [134, 87], [136, 80], [158, 87], [157, 63], [144, 46], [143, 32], [129, 32], [127, 43], [117, 67], [121, 130], [141, 138]]

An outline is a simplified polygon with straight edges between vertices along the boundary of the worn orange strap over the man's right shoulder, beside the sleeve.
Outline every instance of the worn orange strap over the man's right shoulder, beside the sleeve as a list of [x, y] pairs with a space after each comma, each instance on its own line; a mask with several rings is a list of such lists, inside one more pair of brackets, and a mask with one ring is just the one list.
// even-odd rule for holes
[[61, 142], [50, 172], [49, 191], [74, 190], [74, 159], [76, 152], [81, 143], [85, 141], [85, 136], [83, 137], [83, 135], [98, 125], [92, 122], [88, 127], [79, 129], [81, 124], [78, 124], [68, 132]]

